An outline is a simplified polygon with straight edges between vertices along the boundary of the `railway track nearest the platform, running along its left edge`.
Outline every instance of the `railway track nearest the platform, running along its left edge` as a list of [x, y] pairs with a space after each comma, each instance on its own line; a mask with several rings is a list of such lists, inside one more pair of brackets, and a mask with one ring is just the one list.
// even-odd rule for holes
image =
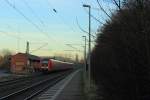
[[[23, 84], [20, 84], [22, 87], [19, 89], [10, 88], [9, 91], [3, 93], [3, 96], [0, 96], [0, 100], [30, 100], [31, 98], [35, 97], [48, 87], [53, 86], [55, 83], [63, 79], [65, 76], [67, 76], [72, 71], [65, 71], [45, 77], [41, 77], [43, 79], [37, 79], [37, 80], [30, 80], [26, 84], [26, 86], [22, 86]], [[19, 86], [19, 85], [18, 85]], [[0, 92], [2, 93], [2, 92]]]

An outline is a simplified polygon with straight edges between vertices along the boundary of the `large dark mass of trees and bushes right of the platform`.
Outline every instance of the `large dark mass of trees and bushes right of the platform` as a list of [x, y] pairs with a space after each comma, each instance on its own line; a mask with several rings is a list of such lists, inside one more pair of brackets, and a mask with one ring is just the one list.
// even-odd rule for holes
[[98, 100], [150, 100], [150, 0], [125, 0], [92, 52]]

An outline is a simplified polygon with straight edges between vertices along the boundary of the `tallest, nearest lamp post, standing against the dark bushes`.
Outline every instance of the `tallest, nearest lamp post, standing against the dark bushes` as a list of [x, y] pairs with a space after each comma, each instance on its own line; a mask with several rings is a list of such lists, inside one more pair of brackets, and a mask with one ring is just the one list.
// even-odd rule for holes
[[91, 83], [91, 6], [83, 5], [83, 7], [89, 8], [89, 52], [88, 52], [88, 79], [89, 87]]

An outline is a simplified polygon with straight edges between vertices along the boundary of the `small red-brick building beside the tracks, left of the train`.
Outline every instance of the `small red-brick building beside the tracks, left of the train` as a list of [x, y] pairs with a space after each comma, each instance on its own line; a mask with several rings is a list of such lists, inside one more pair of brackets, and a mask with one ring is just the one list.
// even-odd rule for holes
[[28, 73], [38, 70], [40, 57], [26, 53], [17, 53], [11, 56], [12, 73]]

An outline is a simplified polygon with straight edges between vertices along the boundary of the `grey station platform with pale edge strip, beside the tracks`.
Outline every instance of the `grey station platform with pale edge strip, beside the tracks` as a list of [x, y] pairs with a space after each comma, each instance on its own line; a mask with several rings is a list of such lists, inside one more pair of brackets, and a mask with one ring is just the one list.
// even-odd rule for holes
[[44, 92], [38, 100], [85, 100], [82, 79], [82, 70], [78, 69]]

